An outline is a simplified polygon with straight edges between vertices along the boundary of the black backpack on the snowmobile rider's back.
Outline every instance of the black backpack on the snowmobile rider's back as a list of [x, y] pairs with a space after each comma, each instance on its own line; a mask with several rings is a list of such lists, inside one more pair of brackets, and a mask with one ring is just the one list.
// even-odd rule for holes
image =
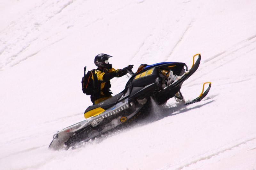
[[95, 80], [95, 78], [97, 78], [95, 76], [94, 73], [95, 69], [88, 71], [87, 74], [85, 74], [86, 72], [86, 67], [84, 67], [84, 77], [82, 78], [82, 90], [83, 93], [86, 95], [93, 95], [94, 93], [94, 81], [92, 80], [92, 76], [93, 79]]

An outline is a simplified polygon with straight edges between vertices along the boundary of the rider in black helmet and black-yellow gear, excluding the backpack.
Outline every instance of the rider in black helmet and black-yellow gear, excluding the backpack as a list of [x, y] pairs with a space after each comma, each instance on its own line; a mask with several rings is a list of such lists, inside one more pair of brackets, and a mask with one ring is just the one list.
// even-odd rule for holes
[[98, 54], [94, 58], [94, 64], [98, 67], [94, 74], [97, 80], [94, 81], [94, 76], [92, 76], [92, 80], [96, 84], [96, 88], [93, 95], [91, 95], [91, 101], [94, 104], [98, 104], [110, 97], [112, 97], [111, 94], [113, 94], [110, 91], [110, 79], [114, 77], [122, 77], [125, 74], [127, 74], [127, 70], [132, 70], [133, 65], [129, 65], [127, 67], [124, 67], [124, 69], [115, 69], [112, 67], [112, 64], [108, 63], [108, 59], [112, 57], [108, 54]]

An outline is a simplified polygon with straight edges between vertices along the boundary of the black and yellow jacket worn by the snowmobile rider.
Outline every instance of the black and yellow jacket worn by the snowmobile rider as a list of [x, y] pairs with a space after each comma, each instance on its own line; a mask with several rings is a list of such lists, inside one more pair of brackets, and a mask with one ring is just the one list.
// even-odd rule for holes
[[110, 91], [110, 80], [114, 77], [122, 77], [126, 73], [118, 74], [118, 69], [111, 68], [108, 71], [103, 71], [100, 68], [97, 68], [94, 71], [96, 81], [94, 81], [94, 76], [92, 76], [92, 80], [95, 83], [95, 93], [91, 95], [91, 101], [94, 103], [95, 100], [103, 97], [111, 96], [112, 92]]

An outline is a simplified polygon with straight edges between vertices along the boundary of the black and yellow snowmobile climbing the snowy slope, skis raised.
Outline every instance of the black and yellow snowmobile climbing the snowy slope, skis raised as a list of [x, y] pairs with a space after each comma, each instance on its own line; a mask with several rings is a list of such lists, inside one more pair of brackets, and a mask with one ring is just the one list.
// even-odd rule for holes
[[[198, 58], [195, 62], [196, 56]], [[180, 93], [181, 85], [195, 73], [200, 60], [201, 54], [194, 55], [193, 65], [189, 70], [187, 65], [181, 62], [156, 63], [136, 73], [127, 70], [131, 77], [124, 90], [101, 103], [89, 106], [84, 112], [86, 119], [54, 134], [49, 148], [68, 149], [81, 141], [88, 141], [123, 124], [143, 118], [149, 112], [149, 100], [154, 100], [160, 105], [175, 97], [184, 102]], [[204, 91], [204, 85], [207, 83], [209, 87]], [[201, 101], [210, 88], [211, 82], [204, 83], [200, 96], [184, 105]]]

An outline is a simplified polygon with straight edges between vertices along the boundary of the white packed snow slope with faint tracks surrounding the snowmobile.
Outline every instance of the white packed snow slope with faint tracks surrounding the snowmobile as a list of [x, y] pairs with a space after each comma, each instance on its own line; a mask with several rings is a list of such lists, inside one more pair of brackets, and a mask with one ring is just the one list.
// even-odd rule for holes
[[[37, 0], [0, 2], [0, 169], [255, 169], [256, 1]], [[52, 151], [58, 130], [91, 105], [83, 68], [201, 64], [151, 119], [76, 149]], [[111, 81], [114, 94], [128, 78]]]

